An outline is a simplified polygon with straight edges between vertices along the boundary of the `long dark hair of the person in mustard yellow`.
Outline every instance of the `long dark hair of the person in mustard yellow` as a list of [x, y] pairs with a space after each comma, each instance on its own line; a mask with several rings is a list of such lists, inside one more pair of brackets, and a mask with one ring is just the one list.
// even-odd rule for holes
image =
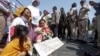
[[26, 26], [23, 25], [16, 25], [14, 29], [14, 35], [11, 37], [11, 40], [15, 38], [19, 38], [19, 47], [21, 51], [23, 51], [23, 44], [27, 41], [26, 35], [28, 34], [29, 30]]

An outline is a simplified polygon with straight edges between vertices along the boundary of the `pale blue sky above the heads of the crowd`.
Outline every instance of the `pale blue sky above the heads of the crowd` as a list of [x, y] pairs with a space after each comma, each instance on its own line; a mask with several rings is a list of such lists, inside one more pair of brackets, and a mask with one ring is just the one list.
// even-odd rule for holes
[[[16, 0], [11, 0], [16, 2]], [[31, 5], [32, 0], [19, 0], [23, 5], [28, 6]], [[87, 0], [88, 3], [89, 0]], [[100, 0], [95, 0], [96, 2], [100, 2]], [[65, 12], [67, 13], [70, 8], [71, 8], [71, 4], [73, 2], [77, 3], [77, 9], [79, 11], [79, 9], [81, 8], [80, 6], [80, 0], [40, 0], [40, 6], [39, 9], [40, 11], [43, 10], [48, 10], [50, 13], [52, 13], [52, 7], [53, 6], [57, 6], [58, 11], [61, 7], [64, 7]], [[17, 3], [17, 2], [16, 2]], [[94, 17], [94, 9], [91, 8], [90, 12], [89, 12], [89, 19], [92, 20], [92, 18]]]

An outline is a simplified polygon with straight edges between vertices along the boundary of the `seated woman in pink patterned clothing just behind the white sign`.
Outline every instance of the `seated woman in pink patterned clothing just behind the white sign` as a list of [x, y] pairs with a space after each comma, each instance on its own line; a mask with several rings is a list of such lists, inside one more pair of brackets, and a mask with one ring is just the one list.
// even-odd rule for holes
[[38, 36], [36, 37], [36, 42], [50, 39], [53, 36], [52, 31], [46, 24], [46, 21], [43, 19], [39, 21], [39, 27], [35, 29], [35, 32], [38, 34]]

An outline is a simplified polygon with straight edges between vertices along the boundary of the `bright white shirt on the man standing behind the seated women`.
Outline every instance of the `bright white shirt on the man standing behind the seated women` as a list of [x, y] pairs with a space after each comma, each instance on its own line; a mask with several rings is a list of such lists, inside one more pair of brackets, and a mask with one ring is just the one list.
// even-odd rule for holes
[[38, 25], [39, 20], [40, 20], [39, 9], [37, 7], [34, 7], [34, 6], [28, 6], [27, 8], [30, 9], [30, 11], [31, 11], [32, 23], [35, 25]]

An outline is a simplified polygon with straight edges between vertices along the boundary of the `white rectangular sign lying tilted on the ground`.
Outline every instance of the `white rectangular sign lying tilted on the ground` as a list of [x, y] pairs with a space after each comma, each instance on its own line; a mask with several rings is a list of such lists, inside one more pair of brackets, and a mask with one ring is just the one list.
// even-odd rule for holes
[[57, 37], [34, 44], [35, 49], [40, 56], [48, 56], [63, 45], [64, 43], [60, 41]]

